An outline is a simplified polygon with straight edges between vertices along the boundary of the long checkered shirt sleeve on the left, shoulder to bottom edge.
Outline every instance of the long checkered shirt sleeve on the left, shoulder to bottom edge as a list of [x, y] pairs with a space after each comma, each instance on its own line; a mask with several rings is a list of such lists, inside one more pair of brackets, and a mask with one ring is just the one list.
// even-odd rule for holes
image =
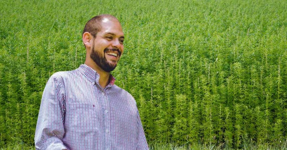
[[65, 133], [64, 116], [64, 89], [52, 75], [42, 95], [34, 139], [36, 149], [67, 149], [61, 141]]

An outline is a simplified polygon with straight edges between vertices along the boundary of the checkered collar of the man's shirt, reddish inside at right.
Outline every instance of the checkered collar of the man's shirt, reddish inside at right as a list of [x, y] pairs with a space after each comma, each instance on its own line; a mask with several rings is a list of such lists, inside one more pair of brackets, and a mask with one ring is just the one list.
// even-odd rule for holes
[[[99, 82], [100, 75], [99, 73], [96, 72], [96, 70], [93, 70], [91, 67], [87, 66], [86, 64], [81, 64], [78, 69], [90, 82], [93, 82], [93, 83]], [[110, 74], [109, 85], [114, 85], [115, 80], [116, 79]]]

